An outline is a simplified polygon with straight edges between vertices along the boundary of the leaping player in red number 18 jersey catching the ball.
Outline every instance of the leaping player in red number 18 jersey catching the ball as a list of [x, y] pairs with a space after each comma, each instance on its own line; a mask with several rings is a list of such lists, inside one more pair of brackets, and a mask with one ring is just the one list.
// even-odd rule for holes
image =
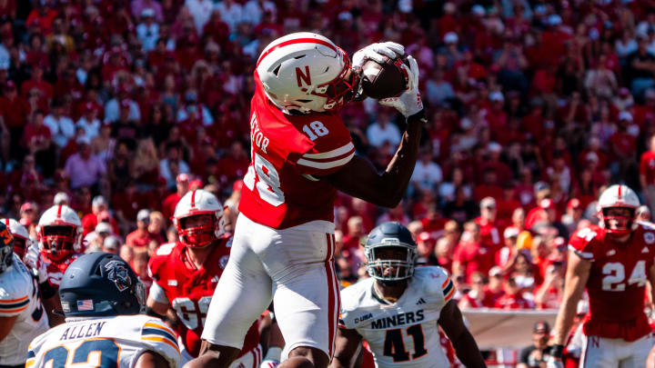
[[[402, 45], [369, 45], [353, 57], [404, 55]], [[328, 38], [286, 35], [264, 49], [250, 104], [251, 164], [244, 177], [234, 242], [207, 313], [200, 356], [188, 367], [227, 368], [244, 336], [273, 299], [287, 343], [283, 368], [326, 368], [334, 353], [338, 280], [334, 270], [337, 190], [395, 207], [416, 165], [426, 121], [418, 64], [408, 56], [409, 86], [379, 100], [407, 119], [398, 152], [379, 174], [355, 155], [338, 110], [353, 99], [358, 69]]]

